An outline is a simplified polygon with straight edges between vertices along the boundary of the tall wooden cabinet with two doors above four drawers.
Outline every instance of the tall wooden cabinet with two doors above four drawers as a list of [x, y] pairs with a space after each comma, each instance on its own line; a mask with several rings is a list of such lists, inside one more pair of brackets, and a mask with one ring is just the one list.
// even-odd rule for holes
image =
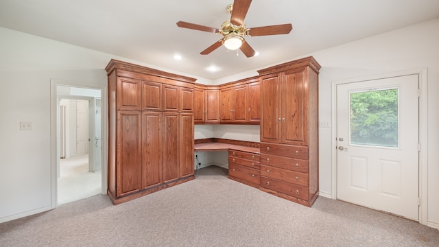
[[314, 58], [262, 69], [261, 190], [311, 206], [318, 196], [318, 71]]

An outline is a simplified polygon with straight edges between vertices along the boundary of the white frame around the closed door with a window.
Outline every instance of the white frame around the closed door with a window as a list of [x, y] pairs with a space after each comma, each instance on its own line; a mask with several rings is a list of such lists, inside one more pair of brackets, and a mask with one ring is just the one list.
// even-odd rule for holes
[[335, 138], [337, 137], [337, 85], [353, 83], [353, 82], [362, 82], [366, 80], [378, 80], [384, 78], [392, 78], [397, 76], [404, 75], [418, 75], [419, 79], [419, 89], [420, 89], [420, 98], [419, 98], [419, 143], [420, 143], [420, 152], [419, 152], [419, 223], [420, 224], [428, 224], [427, 219], [427, 209], [428, 209], [428, 181], [427, 181], [427, 144], [428, 144], [428, 133], [427, 133], [427, 124], [428, 124], [428, 116], [427, 116], [427, 68], [422, 69], [411, 69], [406, 71], [397, 71], [393, 73], [385, 73], [381, 75], [370, 75], [361, 78], [353, 78], [347, 80], [337, 80], [332, 82], [332, 102], [331, 102], [331, 198], [337, 200], [337, 141]]

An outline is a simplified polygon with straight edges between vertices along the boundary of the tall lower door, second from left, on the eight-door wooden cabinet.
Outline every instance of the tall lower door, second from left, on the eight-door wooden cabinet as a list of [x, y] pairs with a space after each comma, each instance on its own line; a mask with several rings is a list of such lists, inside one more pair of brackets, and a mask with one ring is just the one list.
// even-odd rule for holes
[[142, 187], [162, 183], [162, 113], [142, 113]]

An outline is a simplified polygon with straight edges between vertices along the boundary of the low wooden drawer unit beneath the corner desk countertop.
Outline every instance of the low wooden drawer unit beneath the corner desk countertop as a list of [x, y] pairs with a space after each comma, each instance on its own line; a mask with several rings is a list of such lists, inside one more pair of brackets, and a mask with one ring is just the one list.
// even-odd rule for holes
[[228, 151], [228, 178], [259, 188], [259, 154]]

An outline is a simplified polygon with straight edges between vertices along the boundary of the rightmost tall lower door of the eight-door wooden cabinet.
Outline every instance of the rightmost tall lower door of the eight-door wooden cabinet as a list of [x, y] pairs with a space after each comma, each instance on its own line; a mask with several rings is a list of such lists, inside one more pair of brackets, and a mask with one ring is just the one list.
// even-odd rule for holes
[[193, 113], [180, 113], [180, 178], [193, 174]]

